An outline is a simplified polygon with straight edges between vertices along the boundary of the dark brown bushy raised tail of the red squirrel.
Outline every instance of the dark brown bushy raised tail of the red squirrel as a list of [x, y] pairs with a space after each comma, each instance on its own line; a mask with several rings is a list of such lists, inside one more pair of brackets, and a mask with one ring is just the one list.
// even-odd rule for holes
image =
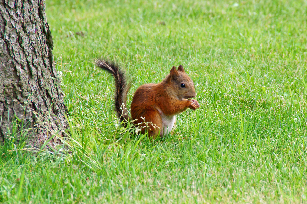
[[94, 64], [111, 73], [115, 80], [114, 106], [119, 122], [123, 121], [124, 126], [130, 121], [129, 113], [126, 109], [127, 93], [130, 86], [127, 85], [125, 74], [120, 70], [119, 64], [105, 59], [96, 59]]

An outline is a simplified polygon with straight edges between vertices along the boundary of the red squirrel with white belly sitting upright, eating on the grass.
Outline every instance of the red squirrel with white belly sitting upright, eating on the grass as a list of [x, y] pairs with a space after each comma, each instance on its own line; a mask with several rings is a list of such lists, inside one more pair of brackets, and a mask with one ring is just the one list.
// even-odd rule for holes
[[[96, 59], [94, 64], [111, 73], [115, 79], [115, 111], [119, 122], [126, 126], [131, 118], [126, 107], [130, 86], [119, 64], [106, 59]], [[185, 73], [182, 65], [174, 66], [162, 82], [144, 84], [135, 91], [131, 103], [131, 117], [134, 126], [150, 137], [172, 134], [176, 115], [187, 108], [196, 110], [199, 103], [195, 99], [194, 83]]]

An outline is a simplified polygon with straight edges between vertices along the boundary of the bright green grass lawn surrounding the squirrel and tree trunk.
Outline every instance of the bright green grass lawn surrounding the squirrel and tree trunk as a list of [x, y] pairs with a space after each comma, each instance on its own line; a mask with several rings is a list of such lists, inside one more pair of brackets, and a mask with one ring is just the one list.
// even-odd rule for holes
[[[307, 202], [306, 1], [46, 4], [72, 139], [33, 154], [13, 134], [0, 202]], [[125, 67], [128, 107], [182, 64], [200, 108], [177, 116], [173, 136], [130, 134], [100, 56]]]

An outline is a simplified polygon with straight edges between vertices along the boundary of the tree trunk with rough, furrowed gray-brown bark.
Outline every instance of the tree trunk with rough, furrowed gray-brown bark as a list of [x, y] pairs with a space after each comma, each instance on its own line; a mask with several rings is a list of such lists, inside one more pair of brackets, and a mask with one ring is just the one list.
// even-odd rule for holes
[[52, 48], [44, 1], [0, 0], [0, 142], [12, 121], [20, 121], [18, 131], [28, 128], [36, 147], [68, 127]]

